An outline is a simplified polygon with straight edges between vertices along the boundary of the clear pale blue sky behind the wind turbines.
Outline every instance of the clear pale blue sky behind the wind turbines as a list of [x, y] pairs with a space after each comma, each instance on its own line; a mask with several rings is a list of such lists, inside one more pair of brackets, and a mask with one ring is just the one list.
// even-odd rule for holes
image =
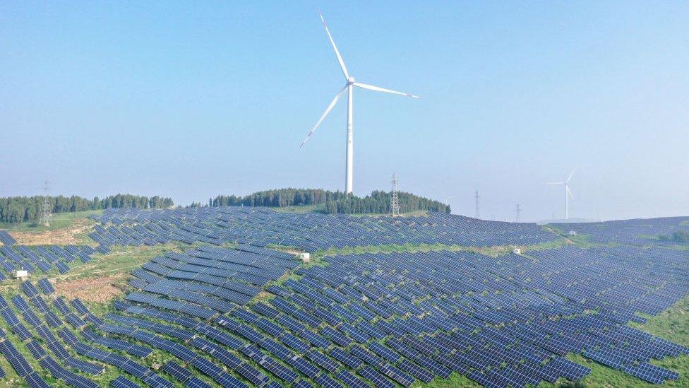
[[0, 1], [0, 196], [344, 189], [522, 221], [689, 215], [686, 1]]

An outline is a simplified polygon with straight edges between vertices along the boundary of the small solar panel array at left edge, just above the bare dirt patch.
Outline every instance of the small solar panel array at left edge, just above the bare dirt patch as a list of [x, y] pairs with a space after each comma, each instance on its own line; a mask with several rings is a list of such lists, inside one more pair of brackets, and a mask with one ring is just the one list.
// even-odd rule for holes
[[0, 271], [0, 280], [11, 278], [18, 269], [30, 273], [57, 269], [60, 274], [66, 274], [71, 269], [70, 263], [88, 263], [95, 253], [88, 245], [5, 245], [0, 247], [0, 266], [4, 270]]

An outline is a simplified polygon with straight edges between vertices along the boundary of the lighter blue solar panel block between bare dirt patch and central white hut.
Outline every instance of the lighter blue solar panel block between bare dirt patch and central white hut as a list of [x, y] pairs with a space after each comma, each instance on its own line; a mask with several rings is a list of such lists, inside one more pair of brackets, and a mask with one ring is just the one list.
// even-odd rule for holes
[[299, 263], [292, 254], [246, 245], [168, 252], [133, 271], [130, 285], [140, 292], [126, 299], [208, 319], [246, 305]]

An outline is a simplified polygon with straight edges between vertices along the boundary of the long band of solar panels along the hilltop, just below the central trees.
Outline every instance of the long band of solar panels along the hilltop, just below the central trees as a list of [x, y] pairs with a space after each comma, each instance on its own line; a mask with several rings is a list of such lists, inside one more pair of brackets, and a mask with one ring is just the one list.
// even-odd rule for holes
[[443, 243], [476, 247], [533, 245], [559, 237], [532, 223], [477, 220], [445, 213], [428, 216], [346, 216], [284, 213], [269, 208], [215, 207], [108, 209], [90, 234], [102, 247], [156, 245], [171, 240], [282, 245], [309, 252], [330, 247]]

